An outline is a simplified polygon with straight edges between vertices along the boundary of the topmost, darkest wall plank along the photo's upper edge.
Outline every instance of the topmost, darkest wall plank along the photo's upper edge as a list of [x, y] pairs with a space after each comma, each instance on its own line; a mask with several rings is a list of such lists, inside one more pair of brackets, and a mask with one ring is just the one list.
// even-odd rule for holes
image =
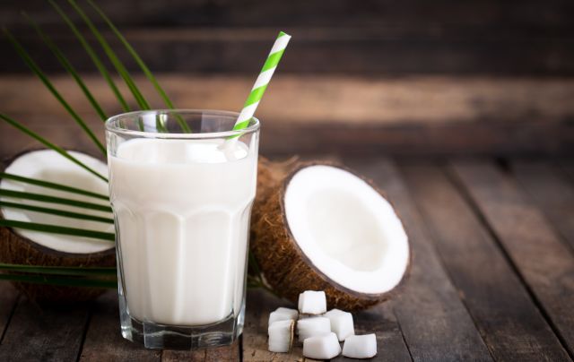
[[[333, 4], [326, 4], [321, 0], [292, 0], [287, 4], [281, 0], [257, 0], [247, 4], [237, 4], [232, 0], [215, 3], [205, 0], [164, 0], [161, 4], [142, 3], [138, 0], [124, 0], [121, 3], [100, 0], [98, 4], [123, 28], [149, 25], [154, 28], [194, 26], [211, 29], [222, 23], [233, 28], [276, 27], [277, 24], [285, 23], [300, 26], [314, 24], [322, 27], [370, 28], [383, 24], [389, 31], [399, 27], [409, 29], [410, 33], [418, 30], [439, 36], [445, 32], [459, 30], [476, 35], [483, 34], [483, 37], [498, 34], [499, 38], [523, 32], [538, 34], [539, 30], [545, 30], [544, 34], [556, 34], [560, 31], [571, 33], [569, 14], [574, 11], [572, 4], [564, 0], [544, 3], [525, 0], [519, 5], [501, 4], [496, 0], [469, 0], [465, 4], [448, 0], [438, 0], [433, 4], [424, 1], [396, 3], [392, 0], [361, 3], [342, 0]], [[65, 4], [63, 6], [69, 9]], [[86, 8], [89, 6], [86, 5]], [[42, 25], [50, 28], [63, 27], [57, 13], [42, 0], [28, 0], [25, 6], [15, 0], [0, 3], [0, 22], [6, 26], [23, 28], [25, 24], [22, 24], [21, 10], [37, 16]], [[70, 16], [79, 20], [74, 13]], [[97, 18], [94, 20], [101, 23]]]

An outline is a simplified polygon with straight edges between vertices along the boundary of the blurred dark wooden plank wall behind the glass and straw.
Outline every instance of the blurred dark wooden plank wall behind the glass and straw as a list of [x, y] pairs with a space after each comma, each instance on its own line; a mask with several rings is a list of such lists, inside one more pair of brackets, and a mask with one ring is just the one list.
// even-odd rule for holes
[[[67, 2], [58, 4], [79, 21]], [[79, 4], [97, 21], [88, 4]], [[98, 4], [181, 108], [239, 109], [276, 32], [291, 33], [280, 70], [257, 112], [264, 121], [262, 150], [267, 154], [572, 153], [570, 0]], [[0, 3], [0, 24], [16, 34], [101, 134], [91, 108], [30, 30], [22, 10], [86, 74], [109, 114], [119, 112], [82, 47], [46, 2]], [[161, 108], [152, 89], [138, 77], [133, 60], [105, 25], [97, 23], [153, 107]], [[0, 48], [0, 110], [39, 132], [58, 126], [63, 131], [55, 141], [77, 146], [71, 140], [76, 128], [69, 116], [5, 39], [0, 39]], [[29, 145], [6, 125], [0, 125], [0, 133], [2, 154], [13, 145]]]

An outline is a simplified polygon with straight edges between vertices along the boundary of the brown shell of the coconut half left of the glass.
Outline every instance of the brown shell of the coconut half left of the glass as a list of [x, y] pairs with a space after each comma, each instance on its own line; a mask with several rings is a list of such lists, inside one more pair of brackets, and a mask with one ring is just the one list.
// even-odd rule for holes
[[[36, 151], [36, 150], [30, 150]], [[24, 151], [0, 165], [4, 169], [14, 159], [30, 151]], [[4, 215], [0, 210], [0, 218]], [[0, 262], [24, 265], [63, 266], [63, 267], [113, 267], [116, 266], [115, 248], [100, 253], [71, 254], [41, 246], [29, 238], [22, 237], [13, 228], [0, 227]], [[79, 302], [99, 297], [106, 289], [60, 287], [43, 284], [13, 281], [13, 286], [21, 290], [31, 300], [38, 302]]]

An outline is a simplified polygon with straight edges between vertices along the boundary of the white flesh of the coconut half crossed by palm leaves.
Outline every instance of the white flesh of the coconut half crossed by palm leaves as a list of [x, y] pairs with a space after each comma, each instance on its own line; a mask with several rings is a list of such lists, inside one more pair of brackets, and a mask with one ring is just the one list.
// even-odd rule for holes
[[[80, 152], [70, 151], [69, 153], [88, 167], [99, 172], [101, 175], [108, 175], [107, 165], [99, 159], [95, 159]], [[83, 190], [91, 191], [93, 193], [105, 195], [109, 194], [108, 184], [105, 181], [91, 175], [91, 173], [83, 168], [80, 168], [69, 159], [65, 159], [56, 151], [42, 150], [24, 153], [22, 156], [15, 159], [5, 169], [4, 172], [22, 177], [38, 178], [44, 181], [49, 181], [61, 185], [73, 186]], [[30, 185], [10, 179], [3, 179], [0, 183], [0, 187], [6, 190], [64, 197], [67, 199], [73, 199], [88, 203], [98, 203], [103, 205], [107, 204], [105, 200], [90, 197], [87, 195], [73, 194], [65, 191], [42, 187], [39, 185]], [[0, 200], [10, 203], [24, 203], [35, 206], [48, 207], [50, 209], [74, 211], [83, 214], [90, 214], [113, 219], [111, 212], [107, 211], [94, 211], [91, 209], [62, 205], [59, 203], [43, 203], [5, 196], [2, 196]], [[114, 232], [114, 225], [111, 223], [103, 223], [93, 220], [71, 219], [37, 211], [27, 211], [9, 207], [2, 207], [1, 210], [6, 220], [30, 221], [41, 224], [63, 226], [67, 228], [83, 228], [109, 233]], [[15, 229], [15, 231], [20, 236], [26, 237], [31, 241], [39, 244], [40, 246], [46, 246], [50, 249], [54, 249], [63, 253], [98, 253], [114, 246], [114, 244], [110, 243], [109, 241], [98, 240], [89, 237], [71, 237], [59, 234], [47, 234], [19, 228]]]

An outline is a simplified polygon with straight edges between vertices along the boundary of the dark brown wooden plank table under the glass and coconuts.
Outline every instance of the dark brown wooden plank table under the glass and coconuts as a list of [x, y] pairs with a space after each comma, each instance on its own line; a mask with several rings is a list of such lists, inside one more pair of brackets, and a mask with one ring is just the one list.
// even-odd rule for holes
[[[374, 360], [561, 361], [574, 356], [574, 163], [521, 159], [344, 159], [395, 203], [413, 268], [397, 297], [354, 315]], [[266, 321], [289, 306], [248, 291], [240, 343], [194, 352], [123, 340], [113, 291], [37, 306], [0, 284], [1, 361], [294, 361], [266, 350]], [[340, 358], [337, 360], [343, 360]]]

